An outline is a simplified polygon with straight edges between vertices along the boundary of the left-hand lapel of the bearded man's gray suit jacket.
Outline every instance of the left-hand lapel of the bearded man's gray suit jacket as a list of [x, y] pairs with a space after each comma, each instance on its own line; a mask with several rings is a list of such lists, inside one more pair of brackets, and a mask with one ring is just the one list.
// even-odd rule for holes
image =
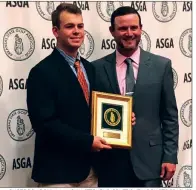
[[106, 63], [104, 64], [104, 68], [109, 78], [110, 85], [115, 94], [120, 94], [120, 88], [116, 75], [116, 52], [107, 56], [105, 60]]

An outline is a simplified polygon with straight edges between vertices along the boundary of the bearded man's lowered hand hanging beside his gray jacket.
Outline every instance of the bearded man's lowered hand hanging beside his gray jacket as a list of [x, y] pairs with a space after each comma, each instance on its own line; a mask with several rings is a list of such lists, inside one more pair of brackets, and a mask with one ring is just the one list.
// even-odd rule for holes
[[163, 163], [161, 166], [161, 178], [163, 180], [170, 180], [176, 171], [176, 165], [170, 163]]

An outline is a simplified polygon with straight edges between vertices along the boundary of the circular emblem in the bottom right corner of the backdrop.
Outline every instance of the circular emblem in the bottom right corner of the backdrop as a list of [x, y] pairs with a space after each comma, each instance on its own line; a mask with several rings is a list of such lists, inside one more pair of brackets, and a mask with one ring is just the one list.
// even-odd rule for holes
[[176, 187], [192, 187], [192, 166], [183, 166], [178, 172]]

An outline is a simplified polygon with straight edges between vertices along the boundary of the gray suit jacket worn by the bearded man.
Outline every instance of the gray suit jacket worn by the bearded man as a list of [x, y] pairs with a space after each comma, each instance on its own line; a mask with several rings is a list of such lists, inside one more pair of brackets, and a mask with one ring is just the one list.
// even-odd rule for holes
[[[95, 90], [120, 94], [116, 53], [94, 61], [93, 65], [96, 68]], [[171, 60], [141, 49], [133, 95], [136, 125], [129, 155], [136, 175], [143, 180], [158, 178], [163, 162], [177, 163], [179, 125], [173, 84]], [[109, 159], [107, 152], [103, 156]], [[117, 160], [123, 162], [121, 156]]]

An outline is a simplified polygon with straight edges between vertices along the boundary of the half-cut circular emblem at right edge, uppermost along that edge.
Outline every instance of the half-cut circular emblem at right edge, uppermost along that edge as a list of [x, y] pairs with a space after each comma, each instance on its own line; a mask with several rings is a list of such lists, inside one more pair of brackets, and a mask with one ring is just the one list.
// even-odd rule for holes
[[185, 30], [179, 41], [180, 50], [186, 57], [192, 57], [192, 28]]

